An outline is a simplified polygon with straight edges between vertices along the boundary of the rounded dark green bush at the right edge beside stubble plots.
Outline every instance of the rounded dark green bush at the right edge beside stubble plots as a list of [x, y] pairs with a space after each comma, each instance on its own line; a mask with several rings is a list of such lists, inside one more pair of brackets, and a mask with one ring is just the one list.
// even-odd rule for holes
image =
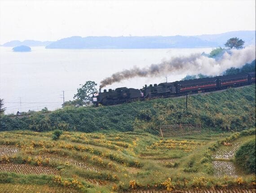
[[255, 139], [243, 144], [235, 154], [235, 161], [247, 172], [256, 172], [256, 147]]

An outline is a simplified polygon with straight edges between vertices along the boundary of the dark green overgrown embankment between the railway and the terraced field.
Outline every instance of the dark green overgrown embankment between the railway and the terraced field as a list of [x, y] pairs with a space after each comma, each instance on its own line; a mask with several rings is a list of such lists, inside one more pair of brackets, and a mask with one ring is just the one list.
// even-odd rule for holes
[[240, 130], [255, 125], [255, 85], [185, 97], [137, 101], [100, 107], [66, 107], [24, 118], [1, 116], [0, 131], [33, 130], [94, 132], [117, 130], [157, 134], [166, 124], [200, 123], [214, 130]]

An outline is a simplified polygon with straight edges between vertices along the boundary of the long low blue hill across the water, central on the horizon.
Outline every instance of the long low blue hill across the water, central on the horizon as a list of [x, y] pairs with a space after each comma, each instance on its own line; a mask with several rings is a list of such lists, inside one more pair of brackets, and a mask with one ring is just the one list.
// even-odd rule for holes
[[73, 36], [57, 40], [46, 48], [83, 49], [83, 48], [197, 48], [212, 47], [216, 44], [207, 40], [187, 36]]

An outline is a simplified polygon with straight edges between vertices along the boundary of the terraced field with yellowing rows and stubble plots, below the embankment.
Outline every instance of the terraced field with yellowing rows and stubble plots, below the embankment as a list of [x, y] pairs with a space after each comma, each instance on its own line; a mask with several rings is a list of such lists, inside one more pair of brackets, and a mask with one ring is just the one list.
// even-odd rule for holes
[[[0, 132], [0, 192], [204, 193], [216, 183], [226, 186], [225, 176], [233, 187], [242, 183], [244, 191], [253, 192], [253, 176], [232, 162], [202, 163], [208, 147], [229, 135], [207, 131], [162, 140], [139, 132], [64, 132], [52, 140], [51, 132]], [[211, 158], [223, 148], [225, 155], [234, 154], [231, 146], [220, 146]], [[211, 164], [212, 174], [207, 172]]]

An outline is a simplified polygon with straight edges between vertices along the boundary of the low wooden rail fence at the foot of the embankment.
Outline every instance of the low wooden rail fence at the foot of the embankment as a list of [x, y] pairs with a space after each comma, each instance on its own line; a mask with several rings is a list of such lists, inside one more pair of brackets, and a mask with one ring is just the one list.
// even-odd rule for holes
[[177, 135], [191, 135], [201, 133], [201, 124], [180, 124], [180, 125], [162, 125], [159, 126], [162, 137], [177, 136]]

